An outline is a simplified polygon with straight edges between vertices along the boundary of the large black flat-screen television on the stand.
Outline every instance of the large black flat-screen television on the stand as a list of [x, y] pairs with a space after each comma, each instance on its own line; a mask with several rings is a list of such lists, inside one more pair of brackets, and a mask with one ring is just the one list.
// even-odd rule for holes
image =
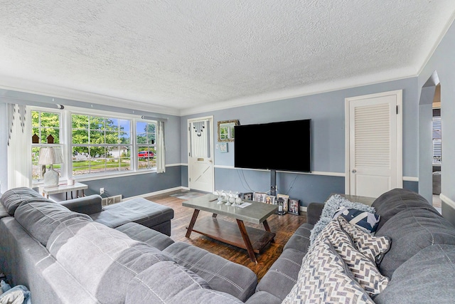
[[311, 120], [234, 127], [234, 166], [311, 172]]

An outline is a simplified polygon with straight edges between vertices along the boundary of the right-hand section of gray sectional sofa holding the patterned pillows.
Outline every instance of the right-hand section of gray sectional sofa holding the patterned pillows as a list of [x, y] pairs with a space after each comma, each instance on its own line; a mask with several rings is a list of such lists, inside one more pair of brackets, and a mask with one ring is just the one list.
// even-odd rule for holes
[[[248, 303], [281, 303], [286, 298], [323, 206], [309, 204], [307, 223], [291, 236]], [[455, 227], [422, 196], [406, 189], [382, 194], [373, 207], [381, 216], [375, 235], [392, 239], [379, 267], [390, 282], [373, 298], [375, 303], [455, 303]]]

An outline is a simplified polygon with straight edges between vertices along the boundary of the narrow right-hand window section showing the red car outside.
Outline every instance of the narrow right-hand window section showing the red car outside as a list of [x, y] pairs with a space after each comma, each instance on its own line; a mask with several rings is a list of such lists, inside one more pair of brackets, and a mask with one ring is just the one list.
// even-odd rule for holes
[[156, 123], [137, 122], [137, 168], [151, 169], [156, 167]]

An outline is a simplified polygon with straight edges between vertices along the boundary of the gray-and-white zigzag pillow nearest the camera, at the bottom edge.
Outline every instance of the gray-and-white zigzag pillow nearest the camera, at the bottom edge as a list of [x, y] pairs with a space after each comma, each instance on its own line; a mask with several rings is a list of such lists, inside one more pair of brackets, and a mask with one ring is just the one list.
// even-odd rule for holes
[[374, 303], [330, 241], [307, 253], [297, 283], [282, 303]]

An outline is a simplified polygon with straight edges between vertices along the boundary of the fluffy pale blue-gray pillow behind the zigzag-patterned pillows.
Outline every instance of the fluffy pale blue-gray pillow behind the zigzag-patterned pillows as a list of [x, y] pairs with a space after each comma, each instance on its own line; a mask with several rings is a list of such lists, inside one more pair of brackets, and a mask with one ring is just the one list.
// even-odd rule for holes
[[358, 209], [360, 211], [367, 211], [370, 213], [375, 213], [375, 209], [372, 206], [367, 206], [365, 204], [355, 203], [348, 201], [340, 194], [333, 194], [324, 204], [324, 207], [321, 212], [321, 218], [316, 222], [313, 229], [311, 229], [310, 234], [310, 244], [313, 245], [314, 240], [321, 233], [322, 229], [327, 226], [328, 223], [333, 219], [333, 214], [336, 213], [340, 206], [345, 206], [352, 209]]

